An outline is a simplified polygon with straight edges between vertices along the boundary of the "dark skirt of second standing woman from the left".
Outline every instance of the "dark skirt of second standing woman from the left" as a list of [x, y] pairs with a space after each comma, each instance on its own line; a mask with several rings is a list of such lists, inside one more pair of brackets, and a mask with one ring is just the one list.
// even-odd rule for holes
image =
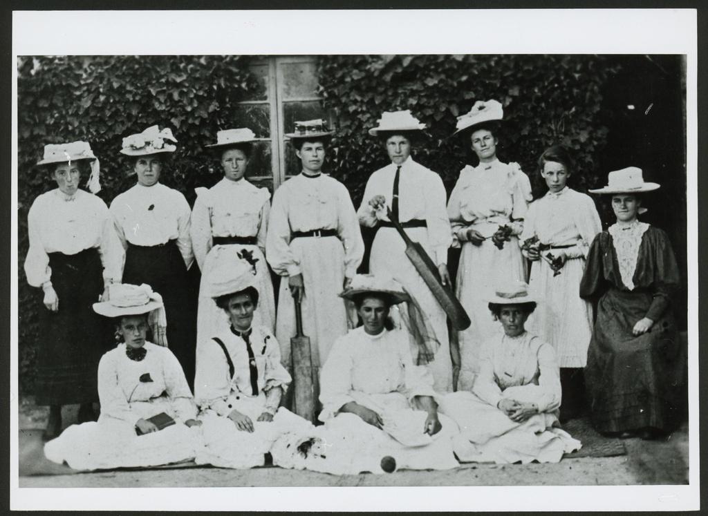
[[190, 278], [176, 241], [161, 246], [129, 245], [125, 253], [123, 282], [132, 285], [147, 283], [162, 296], [167, 316], [168, 347], [179, 360], [187, 382], [193, 388], [197, 314], [190, 299]]

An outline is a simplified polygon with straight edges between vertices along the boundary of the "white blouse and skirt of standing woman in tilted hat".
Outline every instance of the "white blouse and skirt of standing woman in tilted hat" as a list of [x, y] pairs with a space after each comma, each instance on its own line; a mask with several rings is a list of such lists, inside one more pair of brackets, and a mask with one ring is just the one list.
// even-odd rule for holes
[[[526, 174], [517, 164], [498, 160], [463, 168], [450, 194], [447, 213], [455, 234], [453, 246], [462, 244], [455, 289], [472, 320], [467, 330], [457, 334], [462, 361], [457, 382], [459, 390], [472, 388], [479, 371], [482, 343], [501, 331], [487, 306], [493, 286], [500, 281], [526, 280], [524, 258], [518, 246], [523, 221], [518, 219], [525, 217], [531, 198], [531, 183]], [[512, 227], [514, 234], [498, 249], [491, 236], [503, 224]], [[487, 237], [481, 245], [464, 241], [464, 233], [470, 227]]]

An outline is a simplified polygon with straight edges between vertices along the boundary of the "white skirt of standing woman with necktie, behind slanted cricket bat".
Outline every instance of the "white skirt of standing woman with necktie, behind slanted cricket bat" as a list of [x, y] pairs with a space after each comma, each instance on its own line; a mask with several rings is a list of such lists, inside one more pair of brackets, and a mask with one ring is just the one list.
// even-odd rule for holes
[[[428, 229], [410, 228], [406, 234], [411, 240], [423, 246], [428, 256], [433, 259], [433, 254], [428, 245]], [[447, 314], [442, 309], [433, 292], [430, 292], [423, 277], [406, 256], [406, 243], [394, 228], [382, 227], [376, 233], [371, 247], [369, 270], [372, 274], [385, 274], [394, 277], [406, 290], [413, 294], [421, 306], [423, 314], [428, 318], [430, 326], [435, 332], [435, 338], [440, 343], [435, 360], [428, 366], [433, 373], [435, 391], [452, 391], [452, 359], [450, 358], [450, 337], [447, 334]], [[405, 309], [399, 305], [400, 309]]]

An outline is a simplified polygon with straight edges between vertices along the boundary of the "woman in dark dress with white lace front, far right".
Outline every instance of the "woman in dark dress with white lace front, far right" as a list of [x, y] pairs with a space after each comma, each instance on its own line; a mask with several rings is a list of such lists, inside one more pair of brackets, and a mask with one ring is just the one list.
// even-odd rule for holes
[[597, 302], [586, 386], [600, 432], [651, 439], [677, 422], [685, 350], [670, 309], [678, 265], [664, 231], [639, 222], [641, 193], [656, 190], [641, 169], [610, 172], [592, 193], [612, 195], [617, 223], [590, 246], [580, 294]]

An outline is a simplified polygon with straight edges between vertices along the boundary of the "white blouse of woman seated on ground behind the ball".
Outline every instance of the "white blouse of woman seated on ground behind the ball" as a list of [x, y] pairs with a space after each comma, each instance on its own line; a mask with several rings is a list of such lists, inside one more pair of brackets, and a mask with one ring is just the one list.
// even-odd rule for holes
[[336, 340], [320, 375], [321, 420], [355, 401], [355, 393], [400, 393], [406, 399], [434, 396], [425, 366], [413, 365], [407, 333], [384, 330], [371, 336], [363, 326]]

